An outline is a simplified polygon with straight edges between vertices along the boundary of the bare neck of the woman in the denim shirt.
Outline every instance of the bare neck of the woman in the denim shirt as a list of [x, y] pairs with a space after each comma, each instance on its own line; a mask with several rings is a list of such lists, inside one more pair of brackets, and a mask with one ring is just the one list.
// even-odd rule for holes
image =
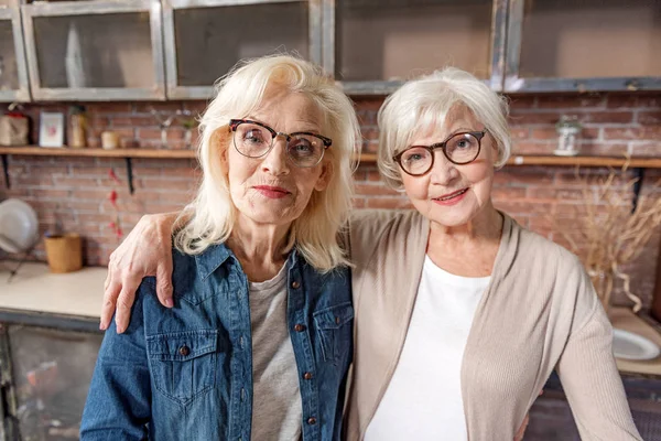
[[237, 222], [227, 246], [241, 262], [250, 281], [268, 280], [282, 268], [290, 226], [258, 224], [246, 218]]

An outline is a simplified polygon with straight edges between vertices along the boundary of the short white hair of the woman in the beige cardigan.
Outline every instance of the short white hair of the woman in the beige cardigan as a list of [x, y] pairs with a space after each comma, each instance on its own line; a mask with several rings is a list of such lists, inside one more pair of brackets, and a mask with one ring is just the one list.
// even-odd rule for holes
[[379, 109], [378, 165], [383, 181], [402, 190], [400, 169], [392, 159], [413, 137], [441, 127], [456, 105], [466, 106], [485, 125], [498, 146], [496, 166], [505, 165], [511, 152], [507, 101], [472, 74], [446, 67], [403, 85]]

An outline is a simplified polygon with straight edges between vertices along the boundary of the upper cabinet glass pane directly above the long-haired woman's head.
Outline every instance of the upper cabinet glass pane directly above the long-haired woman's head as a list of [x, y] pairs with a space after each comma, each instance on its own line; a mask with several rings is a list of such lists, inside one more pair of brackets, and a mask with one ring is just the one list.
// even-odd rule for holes
[[174, 11], [180, 86], [210, 86], [241, 58], [308, 54], [306, 2]]

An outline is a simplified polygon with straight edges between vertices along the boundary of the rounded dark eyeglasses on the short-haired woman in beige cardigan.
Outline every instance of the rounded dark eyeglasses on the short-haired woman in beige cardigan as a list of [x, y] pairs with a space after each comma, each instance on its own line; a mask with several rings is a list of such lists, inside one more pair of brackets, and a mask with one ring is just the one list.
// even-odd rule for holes
[[442, 149], [453, 164], [465, 165], [477, 159], [486, 131], [455, 133], [432, 146], [412, 146], [392, 159], [411, 176], [422, 176], [434, 166], [434, 150]]

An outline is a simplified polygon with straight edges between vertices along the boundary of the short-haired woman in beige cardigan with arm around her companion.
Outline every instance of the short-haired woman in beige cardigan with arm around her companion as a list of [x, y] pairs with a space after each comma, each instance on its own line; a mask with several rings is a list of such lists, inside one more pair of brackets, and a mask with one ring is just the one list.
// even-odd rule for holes
[[[344, 239], [355, 309], [347, 440], [510, 440], [553, 370], [582, 439], [641, 439], [579, 260], [494, 206], [507, 112], [455, 68], [405, 84], [379, 111], [379, 170], [415, 209], [356, 212]], [[142, 236], [116, 251], [101, 325], [144, 276], [131, 268], [167, 265], [162, 249], [136, 251], [166, 244], [159, 230], [171, 225], [144, 218]]]

